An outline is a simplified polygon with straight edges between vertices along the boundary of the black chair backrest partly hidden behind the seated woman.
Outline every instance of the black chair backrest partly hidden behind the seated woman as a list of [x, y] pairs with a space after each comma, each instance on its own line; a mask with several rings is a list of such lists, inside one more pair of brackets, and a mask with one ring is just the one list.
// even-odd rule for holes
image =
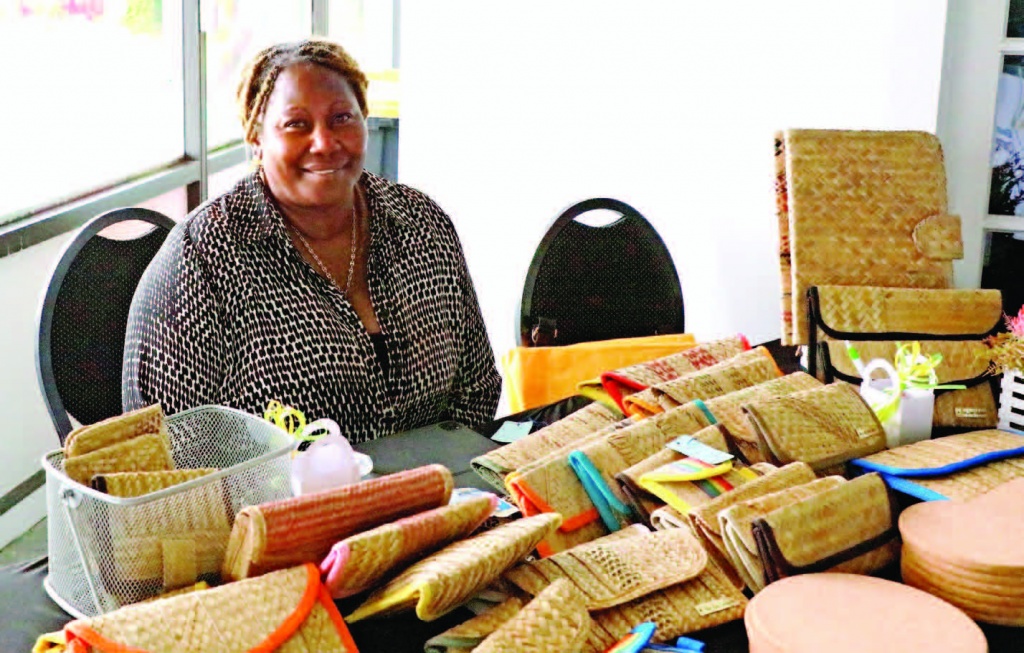
[[174, 224], [148, 209], [109, 211], [87, 222], [57, 259], [39, 313], [36, 373], [61, 444], [72, 430], [69, 413], [92, 424], [122, 412], [128, 309]]

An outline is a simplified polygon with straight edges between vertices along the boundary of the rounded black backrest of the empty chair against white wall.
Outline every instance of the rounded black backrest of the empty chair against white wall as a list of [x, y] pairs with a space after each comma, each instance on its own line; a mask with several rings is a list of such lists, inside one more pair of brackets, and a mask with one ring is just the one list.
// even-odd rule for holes
[[[603, 226], [577, 220], [594, 210], [622, 217]], [[668, 248], [636, 209], [585, 200], [537, 248], [516, 321], [523, 347], [683, 333], [683, 291]]]

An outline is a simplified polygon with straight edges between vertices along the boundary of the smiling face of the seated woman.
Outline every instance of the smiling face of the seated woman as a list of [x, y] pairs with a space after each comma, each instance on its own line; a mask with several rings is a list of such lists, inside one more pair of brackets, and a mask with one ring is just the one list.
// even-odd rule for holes
[[256, 140], [270, 191], [286, 209], [351, 202], [367, 121], [348, 81], [313, 63], [281, 72]]

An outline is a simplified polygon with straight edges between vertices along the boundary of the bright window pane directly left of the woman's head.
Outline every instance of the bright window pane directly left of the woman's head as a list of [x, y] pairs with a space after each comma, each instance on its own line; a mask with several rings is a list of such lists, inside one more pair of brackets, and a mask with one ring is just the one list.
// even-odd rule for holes
[[206, 30], [207, 141], [213, 149], [242, 138], [234, 89], [261, 49], [312, 34], [309, 0], [201, 0]]

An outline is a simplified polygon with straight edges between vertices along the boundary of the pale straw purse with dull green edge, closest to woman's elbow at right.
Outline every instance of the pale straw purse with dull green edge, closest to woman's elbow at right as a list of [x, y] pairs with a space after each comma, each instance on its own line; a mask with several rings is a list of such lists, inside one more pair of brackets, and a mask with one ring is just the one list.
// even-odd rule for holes
[[477, 475], [504, 492], [505, 477], [512, 472], [622, 421], [620, 412], [601, 403], [591, 403], [515, 442], [473, 459], [471, 465]]

